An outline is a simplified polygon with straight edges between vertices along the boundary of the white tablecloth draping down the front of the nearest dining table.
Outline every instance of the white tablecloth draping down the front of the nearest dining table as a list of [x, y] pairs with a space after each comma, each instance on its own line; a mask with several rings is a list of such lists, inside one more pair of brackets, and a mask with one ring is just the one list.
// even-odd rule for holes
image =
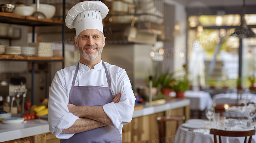
[[[243, 143], [245, 137], [226, 137], [222, 136], [222, 143]], [[167, 138], [166, 138], [167, 139]], [[214, 143], [213, 134], [201, 130], [189, 131], [188, 128], [179, 127], [175, 135], [168, 136], [169, 142], [172, 143]], [[219, 140], [219, 137], [217, 137]], [[248, 141], [248, 137], [247, 137]], [[256, 143], [256, 135], [252, 136], [252, 143]]]

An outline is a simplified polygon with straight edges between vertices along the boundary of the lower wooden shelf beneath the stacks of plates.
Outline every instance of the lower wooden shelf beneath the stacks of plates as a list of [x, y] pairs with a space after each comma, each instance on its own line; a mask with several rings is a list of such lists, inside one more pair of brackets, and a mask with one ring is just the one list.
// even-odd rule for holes
[[63, 57], [26, 57], [17, 54], [3, 54], [0, 55], [0, 60], [18, 60], [18, 61], [63, 61]]

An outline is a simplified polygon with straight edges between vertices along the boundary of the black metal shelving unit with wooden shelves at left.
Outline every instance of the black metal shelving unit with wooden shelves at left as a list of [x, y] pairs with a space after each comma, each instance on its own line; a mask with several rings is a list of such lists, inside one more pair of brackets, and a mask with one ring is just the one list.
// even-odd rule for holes
[[[31, 26], [32, 27], [32, 42], [34, 42], [34, 33], [35, 27], [38, 26], [62, 26], [62, 57], [22, 57], [22, 56], [15, 56], [15, 55], [0, 55], [0, 60], [4, 61], [27, 61], [32, 62], [32, 71], [31, 71], [31, 102], [33, 105], [33, 91], [34, 91], [34, 63], [36, 62], [62, 62], [62, 67], [64, 67], [64, 19], [65, 19], [65, 3], [66, 1], [62, 1], [63, 5], [63, 15], [62, 20], [52, 20], [52, 19], [37, 19], [36, 17], [32, 16], [20, 16], [14, 13], [6, 13], [0, 12], [0, 23], [8, 23], [8, 24], [15, 24], [15, 25], [23, 25], [23, 26]], [[33, 0], [33, 3], [35, 1]], [[21, 34], [20, 34], [21, 35]], [[3, 39], [13, 39], [12, 37], [0, 37]], [[11, 42], [10, 42], [11, 43]]]

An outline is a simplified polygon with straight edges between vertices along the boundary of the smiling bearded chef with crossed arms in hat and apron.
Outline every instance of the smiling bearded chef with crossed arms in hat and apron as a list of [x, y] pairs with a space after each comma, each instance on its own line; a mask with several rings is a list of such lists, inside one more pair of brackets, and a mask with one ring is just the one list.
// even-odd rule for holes
[[108, 8], [84, 1], [68, 11], [80, 61], [57, 71], [49, 94], [48, 121], [61, 143], [122, 142], [122, 127], [132, 120], [135, 97], [124, 69], [103, 62], [102, 19]]

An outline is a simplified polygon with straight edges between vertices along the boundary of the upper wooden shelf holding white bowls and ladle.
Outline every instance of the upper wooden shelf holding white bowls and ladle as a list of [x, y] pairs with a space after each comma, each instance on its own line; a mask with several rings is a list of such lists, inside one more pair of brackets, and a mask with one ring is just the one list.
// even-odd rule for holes
[[26, 26], [51, 26], [64, 24], [64, 21], [61, 20], [38, 19], [32, 16], [21, 16], [8, 12], [0, 12], [0, 22]]

